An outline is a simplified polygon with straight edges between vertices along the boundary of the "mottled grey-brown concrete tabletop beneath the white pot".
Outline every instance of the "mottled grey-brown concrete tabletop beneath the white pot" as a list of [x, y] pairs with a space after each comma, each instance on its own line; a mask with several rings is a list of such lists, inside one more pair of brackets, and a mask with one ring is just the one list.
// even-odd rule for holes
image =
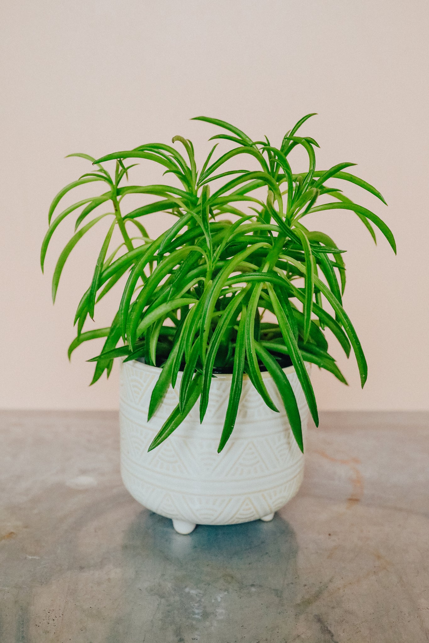
[[271, 523], [179, 536], [118, 416], [0, 414], [1, 643], [429, 640], [429, 414], [323, 413]]

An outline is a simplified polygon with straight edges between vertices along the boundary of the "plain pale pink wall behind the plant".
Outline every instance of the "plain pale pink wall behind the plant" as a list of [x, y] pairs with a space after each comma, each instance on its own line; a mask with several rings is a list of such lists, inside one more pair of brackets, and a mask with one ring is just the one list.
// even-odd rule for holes
[[[67, 225], [45, 276], [39, 269], [50, 201], [87, 171], [66, 154], [97, 156], [182, 134], [201, 158], [214, 128], [191, 116], [224, 118], [278, 143], [316, 111], [303, 132], [322, 147], [318, 167], [358, 163], [356, 174], [389, 207], [371, 195], [360, 202], [385, 218], [398, 246], [395, 258], [378, 235], [376, 248], [346, 212], [313, 215], [316, 228], [350, 248], [345, 307], [369, 362], [363, 392], [352, 358], [340, 359], [349, 388], [313, 369], [320, 408], [428, 409], [428, 21], [423, 0], [3, 6], [0, 406], [117, 406], [116, 370], [108, 383], [87, 386], [95, 345], [77, 350], [71, 365], [66, 357], [96, 233], [69, 259], [54, 308], [50, 278]], [[139, 171], [160, 180], [146, 165]], [[162, 215], [149, 222], [152, 234], [166, 225]], [[100, 326], [113, 308], [111, 300], [99, 311]]]

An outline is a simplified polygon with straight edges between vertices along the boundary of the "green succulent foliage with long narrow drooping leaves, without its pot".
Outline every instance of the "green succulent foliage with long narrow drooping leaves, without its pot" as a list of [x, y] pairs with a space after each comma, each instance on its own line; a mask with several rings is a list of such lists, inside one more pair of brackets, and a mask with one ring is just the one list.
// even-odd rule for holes
[[[264, 386], [261, 370], [268, 370], [278, 392], [300, 449], [302, 431], [297, 402], [284, 368], [293, 365], [306, 395], [316, 424], [318, 413], [306, 362], [325, 368], [345, 382], [334, 358], [328, 352], [324, 331], [329, 329], [347, 356], [354, 351], [361, 385], [367, 379], [367, 363], [360, 341], [342, 307], [345, 287], [343, 250], [321, 231], [307, 230], [305, 215], [322, 210], [351, 210], [376, 239], [371, 224], [385, 235], [396, 251], [394, 237], [379, 217], [345, 197], [331, 181], [349, 181], [385, 203], [381, 194], [362, 179], [344, 172], [354, 163], [339, 163], [329, 170], [316, 171], [315, 147], [308, 136], [297, 136], [306, 122], [304, 116], [281, 141], [279, 147], [267, 138], [252, 141], [229, 123], [199, 116], [196, 120], [219, 125], [227, 134], [214, 139], [233, 143], [232, 150], [214, 160], [215, 145], [197, 170], [194, 147], [189, 140], [174, 136], [177, 145], [148, 143], [133, 150], [107, 154], [96, 160], [87, 154], [71, 154], [87, 159], [92, 171], [63, 188], [49, 211], [50, 227], [42, 243], [43, 269], [46, 250], [53, 232], [72, 212], [78, 217], [75, 233], [60, 254], [53, 274], [55, 294], [69, 254], [87, 231], [106, 217], [111, 225], [96, 259], [89, 288], [78, 304], [75, 317], [77, 337], [69, 356], [82, 342], [104, 338], [104, 347], [95, 361], [94, 383], [111, 372], [114, 358], [141, 359], [161, 367], [149, 407], [149, 419], [158, 409], [170, 385], [179, 388], [179, 404], [163, 424], [150, 449], [155, 448], [185, 419], [199, 399], [200, 419], [206, 413], [210, 383], [216, 373], [232, 372], [228, 409], [220, 436], [219, 451], [230, 437], [242, 390], [243, 374], [269, 408], [277, 411]], [[289, 154], [302, 146], [309, 168], [294, 174]], [[257, 170], [228, 169], [224, 163], [251, 156]], [[185, 158], [186, 157], [186, 158]], [[133, 165], [127, 159], [159, 163], [175, 185], [129, 185]], [[102, 165], [116, 161], [114, 173]], [[229, 167], [229, 166], [228, 166]], [[85, 183], [105, 184], [105, 191], [74, 203], [55, 215], [62, 197]], [[210, 190], [210, 184], [215, 187]], [[125, 212], [127, 195], [156, 197], [152, 203]], [[318, 198], [327, 195], [328, 202]], [[91, 221], [96, 208], [110, 204], [109, 212]], [[112, 209], [113, 208], [113, 209]], [[177, 221], [157, 239], [151, 239], [142, 220], [151, 213], [168, 212]], [[229, 218], [228, 218], [229, 217]], [[121, 243], [112, 249], [118, 226]], [[131, 232], [132, 230], [132, 232]], [[93, 320], [95, 304], [126, 276], [122, 298], [111, 325], [84, 330]], [[125, 282], [125, 277], [124, 277]], [[329, 305], [326, 310], [326, 305]], [[331, 311], [331, 312], [329, 312]], [[268, 321], [264, 321], [269, 318]], [[118, 345], [120, 344], [120, 345]]]

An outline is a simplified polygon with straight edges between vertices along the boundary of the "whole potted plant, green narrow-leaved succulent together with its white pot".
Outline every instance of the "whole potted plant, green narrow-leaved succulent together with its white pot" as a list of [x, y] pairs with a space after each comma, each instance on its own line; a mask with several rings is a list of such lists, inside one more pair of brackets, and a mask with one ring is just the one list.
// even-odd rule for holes
[[[394, 251], [395, 241], [376, 214], [339, 189], [338, 183], [351, 182], [385, 203], [376, 188], [344, 171], [353, 163], [316, 170], [318, 144], [297, 136], [312, 115], [278, 147], [200, 116], [226, 132], [212, 139], [233, 144], [219, 156], [216, 143], [201, 170], [192, 143], [181, 136], [174, 136], [173, 145], [149, 143], [99, 159], [71, 154], [93, 167], [63, 188], [50, 207], [42, 269], [53, 232], [68, 215], [78, 214], [53, 273], [54, 301], [78, 240], [109, 217], [68, 354], [84, 341], [105, 338], [90, 360], [92, 383], [104, 372], [109, 377], [114, 359], [121, 359], [123, 482], [143, 505], [172, 518], [181, 533], [196, 523], [270, 520], [297, 493], [308, 410], [318, 424], [309, 365], [346, 383], [328, 352], [325, 329], [347, 356], [353, 350], [362, 386], [367, 379], [360, 341], [342, 307], [344, 251], [324, 232], [308, 230], [304, 216], [350, 210], [374, 240], [372, 224]], [[294, 174], [289, 158], [297, 146], [306, 150], [309, 168]], [[231, 168], [235, 161], [243, 167], [249, 156], [256, 170]], [[129, 159], [158, 163], [173, 185], [130, 185], [136, 163], [126, 165]], [[114, 173], [104, 167], [107, 161], [116, 161]], [[64, 195], [91, 182], [103, 186], [101, 194], [57, 213]], [[126, 212], [131, 194], [144, 195], [144, 201]], [[105, 204], [109, 212], [88, 221]], [[151, 239], [144, 217], [160, 212], [177, 220]], [[113, 249], [116, 228], [121, 240]], [[111, 325], [84, 329], [96, 303], [122, 277]]]

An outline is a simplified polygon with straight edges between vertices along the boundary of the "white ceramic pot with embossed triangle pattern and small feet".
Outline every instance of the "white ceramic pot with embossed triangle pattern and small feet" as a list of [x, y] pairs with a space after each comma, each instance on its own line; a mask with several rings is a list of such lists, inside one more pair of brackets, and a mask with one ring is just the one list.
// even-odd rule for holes
[[[158, 411], [147, 421], [152, 390], [161, 369], [129, 361], [121, 365], [121, 473], [129, 493], [151, 511], [172, 518], [174, 529], [190, 533], [197, 524], [230, 525], [271, 520], [297, 493], [304, 473], [277, 388], [268, 372], [264, 384], [280, 413], [271, 411], [244, 376], [237, 421], [217, 453], [230, 394], [231, 375], [212, 380], [208, 408], [199, 423], [199, 401], [160, 446], [147, 452], [178, 404], [181, 373]], [[308, 407], [293, 367], [284, 372], [297, 397], [304, 446]]]

